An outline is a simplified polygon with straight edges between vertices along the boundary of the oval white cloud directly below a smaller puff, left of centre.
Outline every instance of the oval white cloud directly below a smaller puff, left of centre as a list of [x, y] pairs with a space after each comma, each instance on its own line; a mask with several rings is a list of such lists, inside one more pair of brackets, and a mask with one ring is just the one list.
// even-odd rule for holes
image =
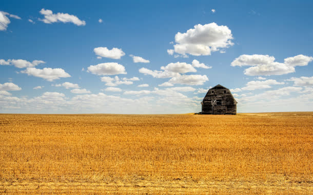
[[88, 71], [97, 75], [127, 74], [125, 67], [115, 62], [99, 63], [95, 66], [88, 67]]

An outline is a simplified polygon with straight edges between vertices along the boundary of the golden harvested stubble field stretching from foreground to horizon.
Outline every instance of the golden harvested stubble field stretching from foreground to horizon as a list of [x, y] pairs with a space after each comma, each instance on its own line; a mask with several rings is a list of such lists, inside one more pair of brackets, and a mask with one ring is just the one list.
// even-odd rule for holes
[[0, 115], [0, 193], [311, 193], [313, 113]]

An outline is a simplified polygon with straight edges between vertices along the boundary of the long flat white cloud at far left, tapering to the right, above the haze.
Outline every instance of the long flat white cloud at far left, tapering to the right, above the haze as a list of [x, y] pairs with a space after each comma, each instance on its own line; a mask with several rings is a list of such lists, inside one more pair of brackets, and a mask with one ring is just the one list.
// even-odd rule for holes
[[44, 68], [44, 69], [27, 68], [26, 70], [21, 71], [21, 73], [32, 75], [34, 77], [40, 77], [48, 81], [71, 77], [71, 75], [66, 73], [63, 69], [51, 69], [51, 68]]

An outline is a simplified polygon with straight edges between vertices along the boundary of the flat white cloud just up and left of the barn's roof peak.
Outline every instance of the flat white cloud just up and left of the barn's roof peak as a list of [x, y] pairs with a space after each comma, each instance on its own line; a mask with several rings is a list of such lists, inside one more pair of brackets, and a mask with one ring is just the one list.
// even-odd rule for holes
[[180, 75], [171, 78], [168, 82], [173, 84], [201, 85], [208, 80], [206, 75]]

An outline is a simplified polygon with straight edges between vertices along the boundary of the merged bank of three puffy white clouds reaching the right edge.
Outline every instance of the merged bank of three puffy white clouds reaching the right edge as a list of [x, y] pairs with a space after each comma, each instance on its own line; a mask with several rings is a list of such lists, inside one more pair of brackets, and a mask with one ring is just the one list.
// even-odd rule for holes
[[297, 55], [288, 57], [284, 63], [276, 62], [275, 57], [269, 55], [241, 55], [231, 62], [231, 66], [252, 66], [245, 69], [244, 74], [257, 75], [283, 75], [295, 72], [295, 66], [306, 66], [312, 57]]

